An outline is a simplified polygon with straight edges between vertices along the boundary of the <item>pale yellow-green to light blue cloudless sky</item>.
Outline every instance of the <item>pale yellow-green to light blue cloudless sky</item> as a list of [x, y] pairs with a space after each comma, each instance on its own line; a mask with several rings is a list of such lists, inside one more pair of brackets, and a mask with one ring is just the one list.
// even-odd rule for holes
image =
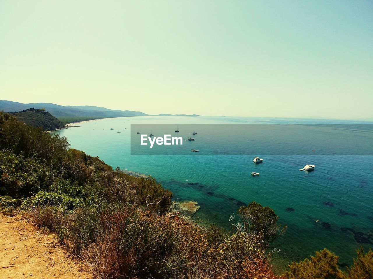
[[0, 99], [373, 118], [373, 1], [0, 0]]

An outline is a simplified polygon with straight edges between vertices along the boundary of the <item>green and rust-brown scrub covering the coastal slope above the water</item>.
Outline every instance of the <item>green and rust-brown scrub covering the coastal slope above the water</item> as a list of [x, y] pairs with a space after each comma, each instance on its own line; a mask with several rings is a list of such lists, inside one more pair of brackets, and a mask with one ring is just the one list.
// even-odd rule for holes
[[[169, 217], [171, 197], [153, 177], [113, 170], [70, 149], [66, 138], [0, 112], [2, 212], [21, 209], [55, 232], [96, 278], [283, 278], [268, 263], [272, 240], [286, 228], [272, 209], [242, 206], [226, 233]], [[372, 251], [360, 251], [348, 274], [337, 262], [329, 251], [317, 252], [293, 263], [284, 278], [371, 278]]]

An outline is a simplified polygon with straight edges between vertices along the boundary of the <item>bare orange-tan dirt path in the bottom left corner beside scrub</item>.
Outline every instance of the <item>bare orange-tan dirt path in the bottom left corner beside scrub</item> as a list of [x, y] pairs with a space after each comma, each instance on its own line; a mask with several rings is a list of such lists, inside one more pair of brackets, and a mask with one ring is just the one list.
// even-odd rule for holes
[[0, 278], [91, 278], [56, 240], [28, 220], [0, 214]]

